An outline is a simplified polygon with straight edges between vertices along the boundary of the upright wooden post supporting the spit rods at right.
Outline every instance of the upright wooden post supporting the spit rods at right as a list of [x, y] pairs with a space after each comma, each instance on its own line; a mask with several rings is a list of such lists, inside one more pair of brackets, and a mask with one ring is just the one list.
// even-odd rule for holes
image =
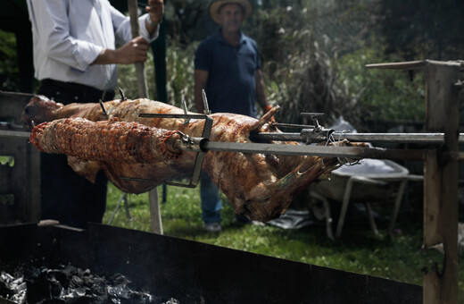
[[424, 245], [443, 244], [443, 261], [424, 270], [424, 303], [458, 303], [458, 161], [460, 65], [429, 63], [426, 70], [426, 128], [444, 131], [441, 148], [424, 162]]

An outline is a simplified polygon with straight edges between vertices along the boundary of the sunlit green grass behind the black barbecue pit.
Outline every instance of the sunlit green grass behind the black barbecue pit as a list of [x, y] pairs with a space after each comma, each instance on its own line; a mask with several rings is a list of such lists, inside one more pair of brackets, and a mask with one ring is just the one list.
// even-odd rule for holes
[[[158, 189], [161, 198], [162, 188]], [[203, 231], [198, 189], [168, 187], [167, 194], [167, 202], [161, 204], [161, 213], [164, 234], [169, 236], [418, 285], [422, 285], [421, 269], [432, 265], [432, 261], [442, 261], [438, 251], [421, 249], [422, 219], [418, 214], [400, 216], [391, 238], [385, 236], [385, 227], [381, 225], [379, 235], [375, 236], [366, 220], [366, 225], [346, 224], [343, 237], [330, 241], [323, 226], [283, 230], [269, 224], [264, 227], [236, 224], [232, 207], [225, 203], [221, 213], [222, 232], [208, 233]], [[110, 185], [105, 224], [120, 195], [120, 190]], [[148, 195], [129, 195], [128, 207], [130, 217], [121, 207], [112, 225], [149, 231]], [[460, 258], [459, 263], [462, 301], [464, 258]]]

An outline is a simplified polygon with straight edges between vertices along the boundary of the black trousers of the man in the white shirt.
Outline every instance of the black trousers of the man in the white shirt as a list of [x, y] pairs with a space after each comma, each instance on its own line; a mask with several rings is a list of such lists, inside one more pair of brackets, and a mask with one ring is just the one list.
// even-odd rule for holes
[[[38, 94], [64, 105], [96, 103], [111, 100], [114, 92], [103, 92], [87, 86], [44, 80]], [[104, 94], [105, 93], [105, 94]], [[87, 229], [87, 222], [102, 223], [106, 207], [107, 178], [103, 171], [95, 184], [74, 173], [67, 156], [41, 153], [41, 218]]]

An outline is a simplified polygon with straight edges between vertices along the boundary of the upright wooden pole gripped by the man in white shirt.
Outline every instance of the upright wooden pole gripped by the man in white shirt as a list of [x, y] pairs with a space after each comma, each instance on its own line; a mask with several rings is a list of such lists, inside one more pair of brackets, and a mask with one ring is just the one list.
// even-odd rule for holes
[[[130, 29], [132, 30], [132, 38], [140, 35], [138, 27], [138, 12], [137, 0], [128, 0], [128, 13], [130, 16]], [[137, 73], [137, 85], [139, 97], [148, 98], [148, 89], [145, 79], [145, 65], [144, 63], [135, 63]], [[152, 232], [162, 234], [162, 217], [160, 213], [160, 202], [158, 199], [158, 189], [155, 187], [148, 193], [148, 200], [150, 202], [150, 217], [152, 223]]]

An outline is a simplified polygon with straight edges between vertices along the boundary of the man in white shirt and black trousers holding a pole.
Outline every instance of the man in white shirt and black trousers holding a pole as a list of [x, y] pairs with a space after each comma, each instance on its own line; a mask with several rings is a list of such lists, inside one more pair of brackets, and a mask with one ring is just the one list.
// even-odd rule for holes
[[[37, 93], [65, 105], [112, 99], [117, 64], [146, 60], [164, 13], [162, 0], [149, 0], [146, 14], [139, 18], [141, 37], [132, 38], [129, 18], [108, 0], [27, 0], [27, 4], [35, 76], [40, 81]], [[104, 173], [92, 184], [70, 169], [65, 156], [42, 154], [42, 218], [80, 228], [87, 222], [101, 223], [106, 183]]]

